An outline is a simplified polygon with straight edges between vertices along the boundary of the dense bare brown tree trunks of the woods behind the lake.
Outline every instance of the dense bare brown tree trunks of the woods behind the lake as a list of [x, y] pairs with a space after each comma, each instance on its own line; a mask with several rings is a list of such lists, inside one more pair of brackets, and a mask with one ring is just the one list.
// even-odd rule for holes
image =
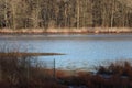
[[121, 0], [0, 0], [1, 29], [131, 28]]

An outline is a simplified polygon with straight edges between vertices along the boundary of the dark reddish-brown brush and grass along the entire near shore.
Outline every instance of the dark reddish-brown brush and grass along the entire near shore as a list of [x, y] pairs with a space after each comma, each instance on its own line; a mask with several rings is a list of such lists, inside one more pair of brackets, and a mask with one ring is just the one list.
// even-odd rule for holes
[[[19, 54], [19, 52], [18, 52]], [[20, 53], [21, 54], [21, 53]], [[31, 61], [32, 59], [32, 61]], [[132, 62], [106, 62], [96, 73], [46, 68], [48, 63], [16, 53], [0, 54], [1, 88], [132, 88]]]

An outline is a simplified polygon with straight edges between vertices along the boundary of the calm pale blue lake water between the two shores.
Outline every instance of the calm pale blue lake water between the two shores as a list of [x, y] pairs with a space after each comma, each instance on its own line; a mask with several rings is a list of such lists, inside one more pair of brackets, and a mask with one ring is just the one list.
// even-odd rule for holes
[[1, 44], [21, 45], [40, 53], [65, 53], [40, 59], [56, 59], [57, 67], [87, 67], [100, 61], [132, 58], [132, 35], [0, 35]]

